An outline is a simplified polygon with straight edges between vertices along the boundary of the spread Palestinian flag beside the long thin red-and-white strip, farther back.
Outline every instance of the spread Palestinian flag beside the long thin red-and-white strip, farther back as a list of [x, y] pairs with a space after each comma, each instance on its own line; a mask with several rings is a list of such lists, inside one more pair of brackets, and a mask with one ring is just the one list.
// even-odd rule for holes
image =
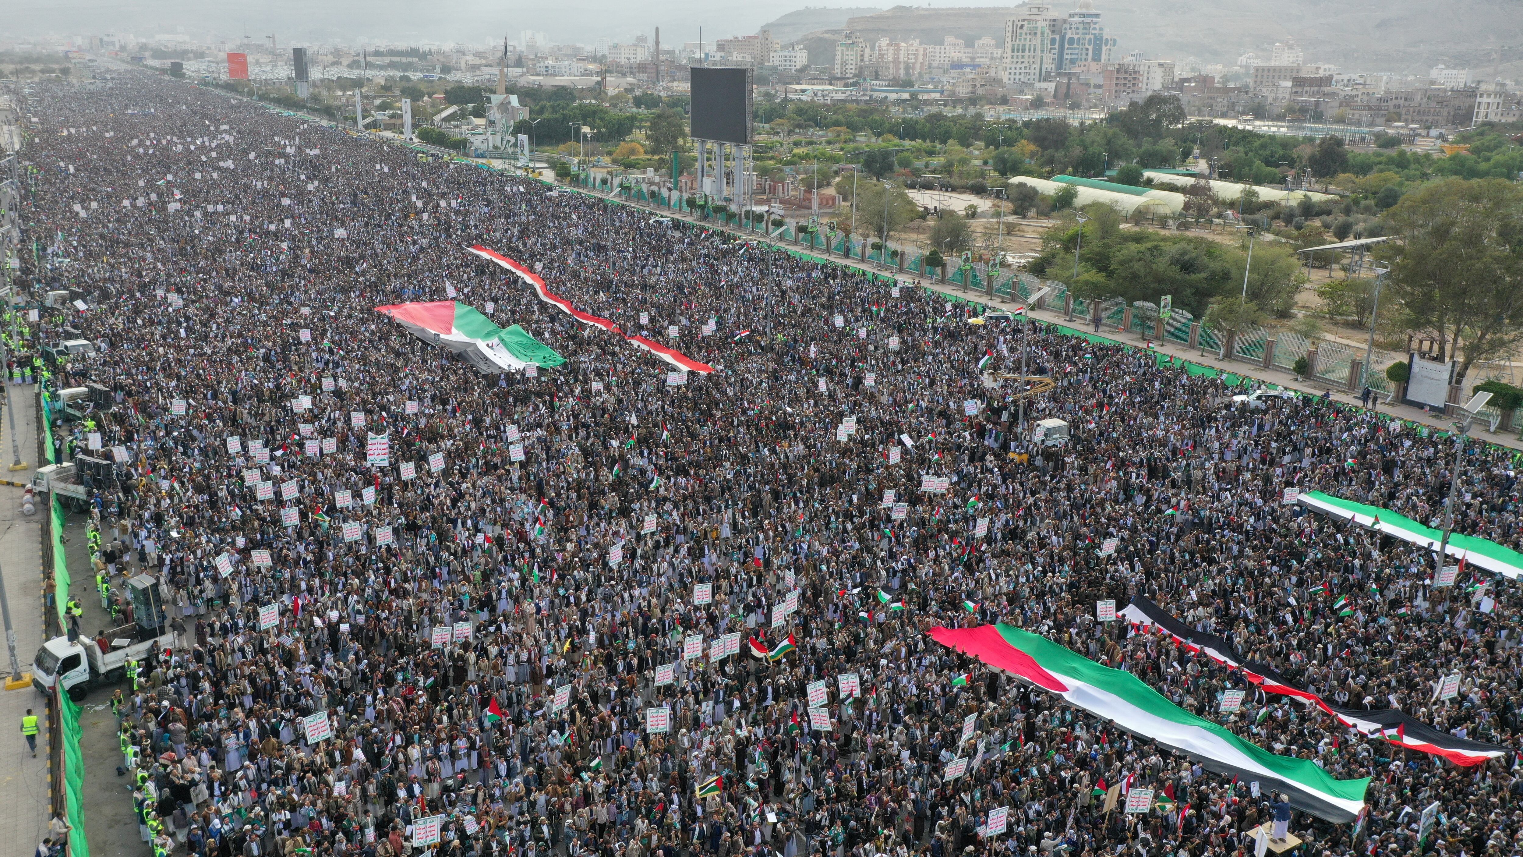
[[391, 317], [419, 339], [460, 355], [483, 374], [521, 371], [527, 365], [556, 367], [567, 362], [518, 324], [504, 330], [475, 307], [460, 301], [394, 303], [378, 306], [376, 312]]

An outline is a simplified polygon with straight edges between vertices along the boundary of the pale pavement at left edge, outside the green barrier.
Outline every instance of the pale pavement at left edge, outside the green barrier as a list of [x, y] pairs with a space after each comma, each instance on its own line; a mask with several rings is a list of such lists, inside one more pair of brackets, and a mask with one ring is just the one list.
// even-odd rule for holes
[[[35, 464], [32, 458], [37, 454], [37, 440], [32, 432], [37, 408], [32, 405], [30, 388], [11, 390], [21, 393], [17, 397], [21, 408], [15, 414], [17, 432], [21, 435], [21, 460]], [[0, 419], [0, 425], [5, 426], [0, 432], [0, 449], [5, 455], [0, 455], [0, 460], [9, 463], [9, 414]], [[15, 475], [0, 472], [0, 476], [20, 483], [30, 478], [30, 470], [18, 470]], [[21, 489], [0, 487], [0, 574], [5, 575], [11, 623], [15, 627], [15, 656], [23, 671], [32, 668], [32, 656], [43, 644], [41, 516], [46, 513], [46, 507], [40, 507], [37, 515], [23, 515]], [[9, 674], [9, 652], [0, 642], [0, 673]], [[37, 758], [26, 752], [26, 741], [21, 738], [21, 715], [27, 708], [34, 709], [43, 726], [37, 741]], [[30, 685], [0, 691], [0, 804], [6, 807], [6, 811], [0, 813], [0, 857], [32, 857], [37, 845], [47, 836], [50, 796], [46, 725], [43, 696]]]

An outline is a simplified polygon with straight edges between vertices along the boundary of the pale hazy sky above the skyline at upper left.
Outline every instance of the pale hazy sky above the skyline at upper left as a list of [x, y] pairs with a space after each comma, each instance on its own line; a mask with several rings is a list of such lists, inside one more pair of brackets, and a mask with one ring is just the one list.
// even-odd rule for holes
[[[661, 27], [663, 41], [696, 41], [748, 35], [806, 5], [801, 0], [573, 0], [570, 3], [493, 3], [457, 0], [5, 0], [0, 35], [99, 35], [129, 32], [152, 37], [184, 27], [192, 37], [265, 37], [280, 44], [359, 41], [484, 43], [521, 30], [541, 30], [553, 41], [629, 40]], [[868, 6], [867, 2], [835, 6]], [[891, 3], [883, 3], [889, 6]], [[1014, 6], [988, 0], [932, 0], [929, 6]], [[492, 33], [492, 35], [489, 35]]]

